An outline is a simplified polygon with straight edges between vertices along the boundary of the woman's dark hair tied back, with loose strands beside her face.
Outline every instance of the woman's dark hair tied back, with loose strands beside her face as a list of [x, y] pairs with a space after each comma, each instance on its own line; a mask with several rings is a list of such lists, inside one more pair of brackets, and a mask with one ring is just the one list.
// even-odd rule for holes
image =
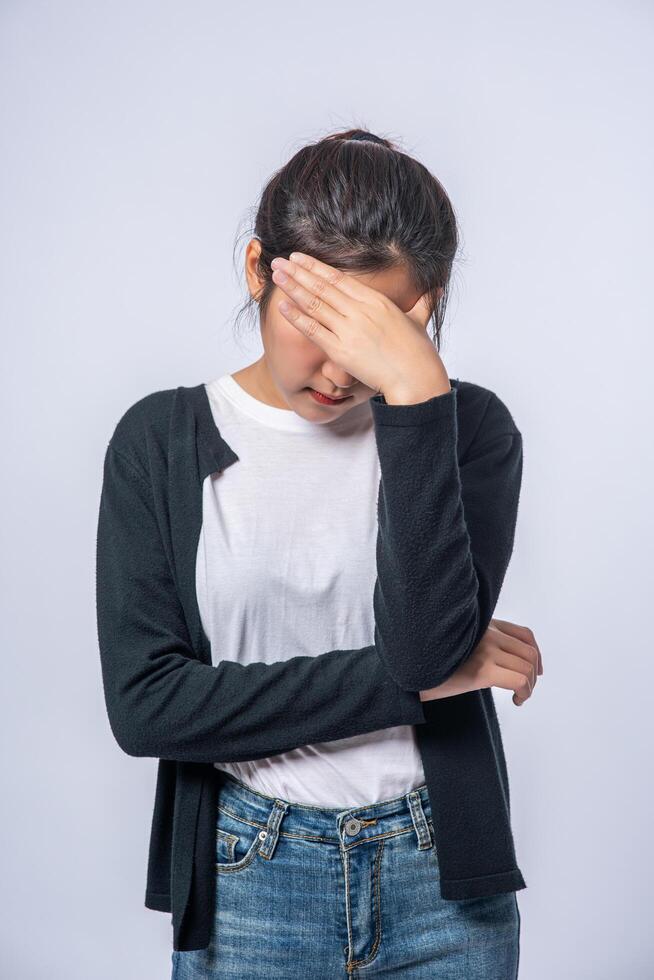
[[264, 285], [241, 307], [237, 322], [255, 303], [265, 316], [276, 255], [306, 252], [346, 272], [403, 264], [415, 288], [431, 293], [432, 339], [440, 350], [459, 245], [456, 217], [436, 177], [389, 140], [348, 129], [302, 147], [265, 186], [254, 236], [261, 242], [257, 272]]

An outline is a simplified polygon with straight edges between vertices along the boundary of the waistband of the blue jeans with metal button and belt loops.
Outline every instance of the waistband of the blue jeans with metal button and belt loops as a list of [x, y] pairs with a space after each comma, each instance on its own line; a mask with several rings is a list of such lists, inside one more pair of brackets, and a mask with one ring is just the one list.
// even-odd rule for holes
[[[216, 769], [218, 808], [232, 817], [267, 831], [271, 846], [279, 834], [345, 846], [367, 838], [391, 837], [413, 831], [418, 847], [430, 847], [427, 821], [431, 804], [426, 784], [402, 796], [347, 808], [293, 803], [254, 790], [231, 773]], [[265, 850], [265, 848], [264, 848]]]

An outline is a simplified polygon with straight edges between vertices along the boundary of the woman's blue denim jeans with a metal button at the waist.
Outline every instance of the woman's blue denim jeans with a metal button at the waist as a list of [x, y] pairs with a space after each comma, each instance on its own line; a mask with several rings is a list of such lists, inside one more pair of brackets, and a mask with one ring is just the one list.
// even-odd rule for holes
[[444, 901], [426, 786], [347, 810], [219, 774], [216, 910], [172, 980], [515, 980], [515, 892]]

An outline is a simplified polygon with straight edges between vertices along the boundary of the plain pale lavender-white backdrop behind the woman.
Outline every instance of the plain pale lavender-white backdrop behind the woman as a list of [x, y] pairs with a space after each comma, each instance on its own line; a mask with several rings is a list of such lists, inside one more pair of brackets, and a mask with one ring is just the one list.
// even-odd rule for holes
[[102, 460], [141, 396], [259, 357], [234, 333], [252, 209], [350, 126], [444, 183], [441, 356], [524, 437], [496, 609], [545, 668], [520, 708], [496, 690], [520, 977], [654, 975], [652, 28], [633, 0], [4, 0], [3, 977], [170, 975], [144, 907], [156, 761], [121, 752], [102, 693]]

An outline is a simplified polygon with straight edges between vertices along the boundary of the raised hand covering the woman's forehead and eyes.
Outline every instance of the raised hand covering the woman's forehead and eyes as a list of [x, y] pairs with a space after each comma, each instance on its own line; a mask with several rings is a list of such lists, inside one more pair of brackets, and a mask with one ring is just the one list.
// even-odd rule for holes
[[[297, 330], [390, 403], [425, 401], [451, 390], [425, 327], [427, 294], [404, 313], [372, 286], [301, 252], [273, 259], [273, 282], [286, 293], [279, 309]], [[281, 275], [280, 275], [281, 273]], [[282, 279], [286, 275], [286, 280]]]

